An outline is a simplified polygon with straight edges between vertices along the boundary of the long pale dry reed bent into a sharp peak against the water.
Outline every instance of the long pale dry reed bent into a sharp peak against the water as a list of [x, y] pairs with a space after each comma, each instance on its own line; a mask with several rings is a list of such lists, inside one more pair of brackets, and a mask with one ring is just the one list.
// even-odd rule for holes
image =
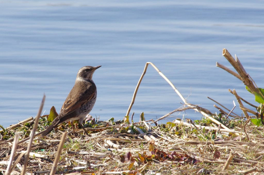
[[[145, 73], [147, 71], [148, 64], [150, 64], [169, 83], [169, 85], [171, 85], [173, 90], [178, 94], [178, 96], [180, 96], [180, 98], [182, 99], [182, 101], [184, 102], [185, 105], [191, 106], [191, 104], [187, 102], [187, 100], [182, 96], [182, 94], [177, 90], [177, 88], [172, 84], [172, 82], [169, 81], [169, 79], [166, 76], [164, 76], [164, 74], [152, 62], [147, 62], [146, 65], [145, 65], [144, 71], [143, 71], [143, 73], [142, 73], [142, 75], [141, 75], [141, 77], [139, 79], [139, 82], [138, 82], [138, 84], [136, 86], [136, 89], [135, 89], [135, 92], [133, 94], [133, 98], [132, 98], [132, 101], [131, 101], [130, 106], [128, 108], [128, 112], [126, 113], [126, 116], [129, 116], [130, 110], [131, 110], [131, 108], [132, 108], [132, 106], [133, 106], [133, 104], [135, 102], [136, 93], [138, 92], [139, 85], [140, 85], [140, 83], [141, 83], [141, 81], [142, 81], [142, 79], [143, 79], [143, 77], [144, 77], [144, 75], [145, 75]], [[207, 113], [205, 113], [205, 112], [203, 112], [203, 111], [201, 111], [201, 110], [199, 110], [197, 108], [194, 108], [194, 110], [197, 111], [197, 112], [200, 112], [202, 115], [206, 116], [207, 118], [209, 118], [214, 123], [221, 124], [219, 121], [217, 121], [213, 117], [209, 116]], [[222, 124], [222, 127], [225, 128], [225, 129], [229, 129], [228, 127], [226, 127], [223, 124]]]

